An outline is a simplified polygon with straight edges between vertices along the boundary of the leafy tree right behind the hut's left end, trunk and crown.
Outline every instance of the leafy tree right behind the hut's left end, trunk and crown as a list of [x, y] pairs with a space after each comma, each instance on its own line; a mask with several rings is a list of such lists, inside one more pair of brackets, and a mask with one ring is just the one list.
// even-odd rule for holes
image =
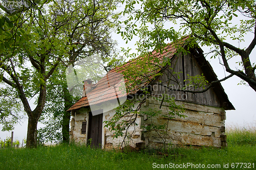
[[[41, 141], [53, 139], [55, 142], [69, 142], [70, 113], [66, 110], [81, 95], [73, 95], [70, 92], [71, 88], [68, 86], [69, 82], [65, 75], [67, 67], [75, 69], [73, 67], [79, 61], [91, 60], [90, 56], [95, 54], [99, 55], [104, 62], [109, 62], [116, 57], [114, 54], [116, 42], [111, 38], [111, 31], [114, 29], [115, 20], [118, 18], [118, 13], [113, 12], [117, 2], [85, 2], [79, 1], [76, 4], [74, 2], [70, 4], [62, 2], [51, 7], [53, 11], [51, 16], [56, 20], [70, 18], [67, 21], [67, 27], [62, 28], [62, 36], [69, 37], [67, 46], [71, 45], [72, 48], [67, 52], [67, 61], [58, 67], [48, 83], [47, 103], [43, 116], [39, 120], [47, 125], [38, 131]], [[86, 64], [92, 62], [94, 61], [89, 61]], [[79, 89], [82, 90], [82, 81], [79, 83]], [[51, 114], [49, 115], [49, 113]]]

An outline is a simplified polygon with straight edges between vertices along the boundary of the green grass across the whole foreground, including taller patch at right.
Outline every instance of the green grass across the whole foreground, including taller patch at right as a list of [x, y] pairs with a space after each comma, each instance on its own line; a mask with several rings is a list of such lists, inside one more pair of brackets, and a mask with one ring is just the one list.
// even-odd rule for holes
[[[154, 150], [125, 154], [75, 144], [37, 149], [2, 149], [0, 169], [158, 169], [153, 168], [153, 165], [161, 167], [161, 164], [163, 167], [165, 164], [170, 165], [169, 169], [173, 169], [174, 164], [187, 163], [194, 164], [195, 168], [182, 166], [178, 169], [203, 169], [196, 168], [199, 164], [212, 166], [207, 169], [234, 169], [231, 165], [236, 167], [237, 164], [232, 163], [240, 162], [251, 163], [251, 168], [241, 168], [240, 164], [236, 169], [253, 169], [253, 163], [255, 169], [255, 134], [255, 128], [227, 128], [227, 149], [176, 148], [169, 151], [168, 157], [157, 156]], [[223, 168], [224, 164], [228, 168]], [[220, 168], [216, 168], [218, 165]]]

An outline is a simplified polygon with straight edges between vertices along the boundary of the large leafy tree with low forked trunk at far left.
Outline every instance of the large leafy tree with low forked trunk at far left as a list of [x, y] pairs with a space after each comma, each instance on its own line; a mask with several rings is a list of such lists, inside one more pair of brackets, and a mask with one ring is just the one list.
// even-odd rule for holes
[[58, 66], [95, 52], [110, 55], [115, 7], [115, 1], [46, 1], [1, 15], [1, 81], [15, 91], [28, 115], [27, 147], [36, 147], [37, 122]]

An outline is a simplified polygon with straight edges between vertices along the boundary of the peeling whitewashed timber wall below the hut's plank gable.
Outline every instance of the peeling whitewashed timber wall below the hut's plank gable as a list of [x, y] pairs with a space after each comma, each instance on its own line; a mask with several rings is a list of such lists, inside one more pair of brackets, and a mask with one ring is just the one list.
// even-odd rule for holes
[[[196, 145], [221, 147], [221, 128], [225, 126], [225, 120], [221, 119], [223, 108], [176, 101], [178, 105], [183, 104], [185, 117], [175, 116], [169, 120], [167, 128], [167, 143], [179, 145]], [[163, 116], [169, 111], [163, 104], [159, 109], [160, 101], [150, 98], [148, 106], [142, 106], [140, 111], [148, 111], [149, 108], [161, 110], [162, 114], [158, 117], [148, 118], [141, 122], [141, 128], [150, 124], [164, 125], [167, 119]], [[160, 132], [160, 131], [159, 131]], [[163, 137], [163, 135], [162, 135]], [[146, 131], [143, 133], [146, 145], [158, 147], [163, 143], [156, 131]]]

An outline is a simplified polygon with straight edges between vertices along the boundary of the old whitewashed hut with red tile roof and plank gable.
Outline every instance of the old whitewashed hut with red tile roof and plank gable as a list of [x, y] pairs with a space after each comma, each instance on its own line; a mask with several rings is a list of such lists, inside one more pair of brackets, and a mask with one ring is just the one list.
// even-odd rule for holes
[[[186, 44], [180, 44], [186, 48]], [[159, 59], [167, 56], [170, 59], [170, 65], [164, 68], [156, 69], [153, 72], [159, 76], [154, 79], [142, 81], [143, 86], [149, 86], [158, 82], [165, 83], [169, 77], [173, 77], [179, 82], [172, 85], [184, 84], [184, 80], [189, 76], [204, 75], [208, 84], [217, 81], [209, 62], [206, 61], [203, 51], [200, 47], [190, 48], [189, 53], [177, 53], [177, 46], [169, 44], [165, 51], [160, 55], [153, 52], [152, 54]], [[134, 61], [134, 60], [133, 60]], [[136, 61], [136, 60], [135, 60]], [[136, 62], [135, 62], [136, 63]], [[126, 79], [121, 79], [123, 67], [129, 67], [133, 62], [127, 62], [126, 65], [112, 69], [96, 85], [92, 81], [84, 81], [84, 92], [82, 98], [75, 103], [68, 111], [71, 111], [71, 130], [70, 138], [75, 142], [87, 143], [89, 139], [93, 145], [104, 148], [120, 147], [123, 137], [113, 138], [113, 131], [104, 127], [105, 120], [109, 120], [116, 113], [115, 107], [125, 105], [126, 100], [131, 96], [141, 93], [139, 89], [127, 90], [125, 93], [120, 88], [122, 82], [127, 83]], [[171, 71], [170, 71], [171, 70]], [[175, 72], [176, 75], [173, 75]], [[178, 73], [178, 74], [177, 74]], [[114, 87], [114, 88], [113, 88]], [[162, 86], [161, 86], [162, 87]], [[202, 88], [201, 88], [202, 89]], [[166, 91], [165, 91], [166, 92]], [[165, 103], [157, 100], [163, 93], [160, 86], [150, 92], [150, 96], [139, 106], [141, 114], [136, 117], [136, 126], [127, 130], [132, 134], [130, 145], [132, 147], [158, 147], [162, 144], [161, 138], [154, 130], [146, 131], [145, 126], [150, 125], [152, 121], [155, 124], [162, 124], [163, 116], [155, 117], [153, 120], [148, 119], [143, 114], [148, 109], [158, 109], [162, 114], [167, 114]], [[166, 142], [177, 145], [194, 145], [194, 146], [213, 146], [225, 147], [225, 110], [234, 110], [234, 107], [228, 100], [220, 82], [211, 86], [203, 93], [191, 93], [184, 91], [168, 90], [170, 96], [175, 96], [176, 104], [183, 105], [185, 117], [175, 116], [169, 120], [167, 128]], [[128, 98], [127, 98], [128, 96]], [[130, 96], [130, 97], [129, 97]], [[159, 107], [160, 105], [161, 108]], [[138, 105], [134, 106], [138, 107]]]

